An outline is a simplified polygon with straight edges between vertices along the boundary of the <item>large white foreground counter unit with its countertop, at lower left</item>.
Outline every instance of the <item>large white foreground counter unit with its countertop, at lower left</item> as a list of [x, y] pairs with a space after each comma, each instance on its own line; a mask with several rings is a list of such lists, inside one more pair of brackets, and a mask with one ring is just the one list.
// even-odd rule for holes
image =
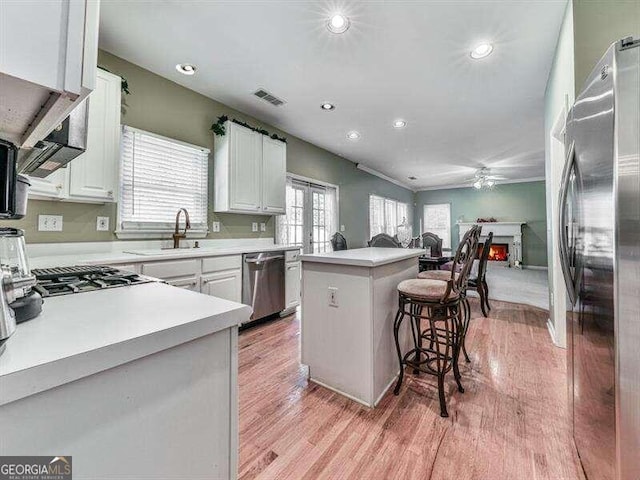
[[45, 299], [0, 356], [0, 455], [75, 479], [236, 478], [250, 307], [147, 283]]

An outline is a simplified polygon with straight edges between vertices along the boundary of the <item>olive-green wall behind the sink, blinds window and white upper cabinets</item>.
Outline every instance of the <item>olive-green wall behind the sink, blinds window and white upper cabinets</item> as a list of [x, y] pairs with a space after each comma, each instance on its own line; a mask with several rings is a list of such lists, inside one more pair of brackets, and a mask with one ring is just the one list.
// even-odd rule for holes
[[[182, 87], [137, 65], [105, 51], [98, 54], [98, 64], [121, 75], [129, 82], [131, 95], [123, 96], [122, 123], [195, 145], [214, 149], [214, 135], [209, 130], [220, 115], [263, 126], [287, 137], [287, 170], [340, 187], [340, 223], [350, 246], [363, 246], [368, 238], [369, 193], [411, 203], [413, 192], [360, 171], [356, 165], [322, 148], [244, 115], [193, 90]], [[213, 156], [212, 156], [213, 157]], [[213, 158], [210, 159], [213, 165]], [[273, 217], [213, 213], [213, 169], [210, 168], [209, 226], [221, 222], [220, 233], [208, 238], [273, 237]], [[38, 214], [64, 216], [63, 232], [38, 232]], [[116, 206], [30, 200], [27, 216], [7, 222], [25, 230], [29, 243], [116, 240], [112, 232], [97, 232], [97, 216], [109, 216], [116, 225]], [[251, 232], [252, 222], [266, 222], [266, 232]]]

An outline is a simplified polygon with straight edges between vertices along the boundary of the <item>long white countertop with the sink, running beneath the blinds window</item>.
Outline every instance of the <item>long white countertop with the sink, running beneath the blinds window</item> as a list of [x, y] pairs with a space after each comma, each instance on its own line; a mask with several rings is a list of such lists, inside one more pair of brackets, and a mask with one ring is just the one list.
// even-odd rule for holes
[[125, 264], [175, 260], [182, 258], [217, 257], [223, 255], [242, 255], [243, 253], [269, 252], [272, 250], [300, 250], [300, 247], [286, 245], [256, 245], [239, 247], [202, 247], [180, 249], [129, 249], [122, 252], [80, 253], [77, 255], [30, 256], [30, 268], [65, 267], [72, 265]]

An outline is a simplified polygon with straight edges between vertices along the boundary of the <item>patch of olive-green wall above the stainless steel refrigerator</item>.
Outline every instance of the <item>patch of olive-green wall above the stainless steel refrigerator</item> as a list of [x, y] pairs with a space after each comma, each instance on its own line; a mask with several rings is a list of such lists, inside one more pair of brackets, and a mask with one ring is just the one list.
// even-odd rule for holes
[[575, 87], [584, 82], [609, 45], [640, 36], [640, 0], [574, 0]]

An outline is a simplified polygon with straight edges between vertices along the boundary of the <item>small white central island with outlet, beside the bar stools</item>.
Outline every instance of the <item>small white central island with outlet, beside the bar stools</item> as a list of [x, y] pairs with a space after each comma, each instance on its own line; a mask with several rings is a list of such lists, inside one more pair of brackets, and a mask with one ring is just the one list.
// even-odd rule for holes
[[[311, 381], [375, 407], [400, 371], [393, 338], [397, 286], [417, 277], [422, 254], [359, 248], [300, 256], [302, 363]], [[402, 345], [407, 332], [401, 331]]]

